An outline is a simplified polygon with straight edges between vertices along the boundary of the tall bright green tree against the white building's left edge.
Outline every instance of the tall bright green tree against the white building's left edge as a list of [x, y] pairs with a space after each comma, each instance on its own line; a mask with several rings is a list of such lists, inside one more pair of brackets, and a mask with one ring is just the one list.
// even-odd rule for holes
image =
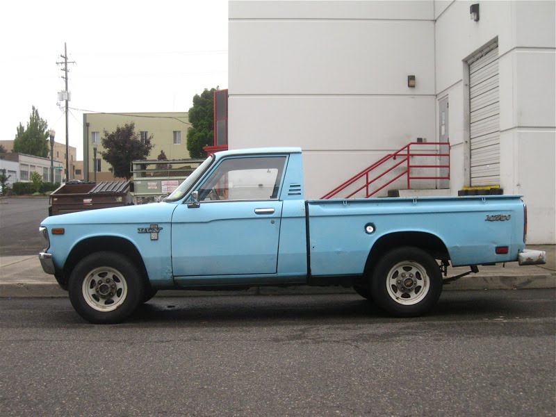
[[203, 147], [214, 144], [213, 94], [217, 88], [206, 88], [201, 95], [193, 97], [193, 107], [189, 109], [190, 129], [187, 131], [187, 150], [191, 158], [204, 158]]

